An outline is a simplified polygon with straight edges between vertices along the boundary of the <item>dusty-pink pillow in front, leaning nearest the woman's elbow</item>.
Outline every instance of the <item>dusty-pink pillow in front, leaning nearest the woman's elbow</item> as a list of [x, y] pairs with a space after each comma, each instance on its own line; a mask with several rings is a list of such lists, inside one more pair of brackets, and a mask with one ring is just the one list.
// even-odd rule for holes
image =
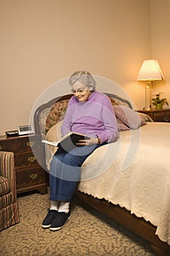
[[117, 118], [123, 121], [123, 123], [130, 129], [138, 129], [146, 124], [146, 121], [144, 121], [142, 116], [139, 116], [139, 113], [125, 105], [115, 105], [113, 106], [113, 109]]

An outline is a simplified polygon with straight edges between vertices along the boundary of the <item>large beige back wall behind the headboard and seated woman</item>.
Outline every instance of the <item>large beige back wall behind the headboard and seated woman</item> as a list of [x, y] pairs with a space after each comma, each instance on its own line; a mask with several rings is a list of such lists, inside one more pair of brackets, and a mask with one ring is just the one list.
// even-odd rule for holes
[[39, 95], [77, 69], [115, 80], [142, 108], [143, 59], [161, 61], [169, 86], [163, 1], [151, 0], [151, 49], [150, 0], [0, 0], [0, 133], [28, 124]]

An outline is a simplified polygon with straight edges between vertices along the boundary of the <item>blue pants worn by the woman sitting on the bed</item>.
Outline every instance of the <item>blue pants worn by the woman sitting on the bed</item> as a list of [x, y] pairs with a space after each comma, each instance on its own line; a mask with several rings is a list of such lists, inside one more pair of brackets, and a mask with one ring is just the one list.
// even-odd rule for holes
[[78, 146], [67, 152], [62, 147], [50, 163], [50, 200], [70, 202], [81, 180], [81, 165], [93, 151], [107, 143]]

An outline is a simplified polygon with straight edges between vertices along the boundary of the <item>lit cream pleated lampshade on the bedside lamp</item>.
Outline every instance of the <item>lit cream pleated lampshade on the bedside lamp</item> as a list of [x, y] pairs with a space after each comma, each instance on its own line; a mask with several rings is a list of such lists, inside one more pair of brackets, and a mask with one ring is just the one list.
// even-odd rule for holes
[[147, 59], [143, 61], [137, 80], [154, 81], [163, 79], [163, 72], [157, 60]]

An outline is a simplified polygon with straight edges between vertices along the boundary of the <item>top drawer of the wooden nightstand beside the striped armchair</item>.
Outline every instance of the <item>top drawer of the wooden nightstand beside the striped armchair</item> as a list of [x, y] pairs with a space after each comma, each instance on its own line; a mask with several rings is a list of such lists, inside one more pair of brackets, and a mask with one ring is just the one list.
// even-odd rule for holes
[[20, 137], [19, 140], [16, 138], [8, 138], [0, 141], [0, 148], [3, 151], [12, 151], [14, 153], [22, 153], [31, 150], [40, 150], [39, 137], [28, 136]]

